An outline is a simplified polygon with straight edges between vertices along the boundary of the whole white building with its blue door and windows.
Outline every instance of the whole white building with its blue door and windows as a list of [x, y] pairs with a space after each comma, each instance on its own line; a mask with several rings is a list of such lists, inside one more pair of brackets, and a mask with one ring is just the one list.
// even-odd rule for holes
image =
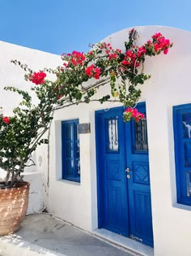
[[[140, 46], [159, 32], [174, 43], [168, 55], [146, 59], [144, 72], [151, 79], [142, 85], [138, 104], [146, 111], [146, 122], [125, 124], [118, 103], [93, 102], [57, 111], [49, 160], [47, 147], [40, 147], [36, 173], [42, 176], [43, 200], [53, 215], [115, 242], [125, 241], [129, 249], [142, 254], [151, 254], [149, 246], [154, 246], [155, 256], [189, 256], [191, 33], [159, 26], [136, 29]], [[125, 50], [128, 32], [124, 29], [104, 41]], [[60, 62], [56, 55], [4, 42], [0, 53], [1, 88], [28, 86], [18, 67], [9, 63], [11, 59], [35, 70]], [[106, 92], [109, 85], [100, 89], [97, 98]], [[13, 105], [6, 93], [1, 90], [0, 95], [5, 110]], [[77, 124], [82, 124], [81, 129], [90, 125], [90, 131], [78, 132]]]

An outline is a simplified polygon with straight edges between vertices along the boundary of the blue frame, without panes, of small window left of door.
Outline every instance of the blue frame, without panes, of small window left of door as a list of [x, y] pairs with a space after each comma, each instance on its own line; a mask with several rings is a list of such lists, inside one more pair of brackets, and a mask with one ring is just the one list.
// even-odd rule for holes
[[[77, 144], [79, 143], [78, 125], [79, 119], [62, 121], [62, 180], [80, 182], [80, 175], [78, 174], [78, 163], [80, 161], [80, 154], [79, 157], [77, 156]], [[66, 126], [72, 127], [71, 139], [66, 139]], [[68, 157], [66, 155], [66, 143], [71, 143], [71, 148], [73, 149], [73, 157]], [[69, 175], [66, 171], [66, 161], [70, 160], [74, 162], [74, 167], [72, 168], [72, 174]]]

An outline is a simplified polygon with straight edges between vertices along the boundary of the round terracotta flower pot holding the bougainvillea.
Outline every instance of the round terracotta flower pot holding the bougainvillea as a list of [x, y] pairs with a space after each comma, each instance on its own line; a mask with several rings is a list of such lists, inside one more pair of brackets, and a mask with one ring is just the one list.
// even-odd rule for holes
[[0, 236], [19, 229], [28, 210], [29, 186], [18, 181], [12, 189], [0, 189]]

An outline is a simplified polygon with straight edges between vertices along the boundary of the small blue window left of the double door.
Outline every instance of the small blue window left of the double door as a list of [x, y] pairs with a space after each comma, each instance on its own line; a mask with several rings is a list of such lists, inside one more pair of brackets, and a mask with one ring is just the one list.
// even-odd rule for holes
[[78, 119], [62, 121], [62, 179], [80, 181]]

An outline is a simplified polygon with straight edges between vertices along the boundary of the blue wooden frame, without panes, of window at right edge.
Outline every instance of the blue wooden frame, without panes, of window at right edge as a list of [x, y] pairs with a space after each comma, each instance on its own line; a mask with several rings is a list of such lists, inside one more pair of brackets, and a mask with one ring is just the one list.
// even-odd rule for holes
[[187, 206], [191, 206], [191, 196], [187, 196], [186, 172], [191, 171], [191, 167], [185, 166], [185, 142], [191, 142], [191, 138], [183, 136], [182, 115], [189, 112], [191, 113], [191, 103], [173, 106], [176, 196], [178, 203]]

